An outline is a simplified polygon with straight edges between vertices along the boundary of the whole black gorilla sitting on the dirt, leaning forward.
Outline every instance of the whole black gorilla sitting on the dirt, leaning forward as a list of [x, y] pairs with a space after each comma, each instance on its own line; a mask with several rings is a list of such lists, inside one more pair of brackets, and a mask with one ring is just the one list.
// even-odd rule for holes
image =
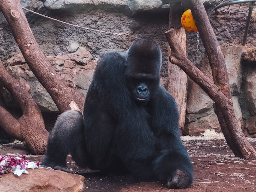
[[53, 128], [41, 166], [69, 171], [71, 152], [79, 166], [126, 168], [138, 180], [163, 180], [187, 188], [193, 166], [179, 133], [173, 97], [160, 84], [161, 51], [138, 40], [122, 53], [100, 59], [83, 115], [62, 113]]

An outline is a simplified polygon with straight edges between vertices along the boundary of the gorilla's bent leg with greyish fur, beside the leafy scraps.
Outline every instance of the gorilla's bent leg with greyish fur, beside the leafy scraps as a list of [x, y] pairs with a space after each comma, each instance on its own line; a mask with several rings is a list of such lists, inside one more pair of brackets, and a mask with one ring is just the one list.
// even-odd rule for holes
[[82, 162], [86, 164], [84, 144], [83, 116], [78, 111], [68, 110], [57, 118], [40, 166], [70, 172], [66, 168], [66, 158], [70, 152], [79, 165]]

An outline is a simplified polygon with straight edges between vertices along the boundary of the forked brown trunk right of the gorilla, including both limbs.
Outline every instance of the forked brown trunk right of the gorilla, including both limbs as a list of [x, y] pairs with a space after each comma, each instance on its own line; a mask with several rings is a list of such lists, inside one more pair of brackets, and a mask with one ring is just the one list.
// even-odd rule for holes
[[[191, 11], [192, 9], [197, 9], [197, 10], [200, 9], [200, 11], [194, 12], [194, 14], [199, 14], [199, 12], [200, 13], [205, 12], [205, 9], [201, 1], [191, 0], [188, 2], [194, 3], [194, 6], [190, 7]], [[194, 14], [193, 14], [193, 17], [194, 17]], [[220, 122], [221, 129], [226, 138], [226, 141], [229, 147], [231, 148], [231, 150], [233, 151], [234, 155], [240, 158], [256, 160], [256, 151], [254, 150], [254, 148], [251, 146], [251, 144], [247, 141], [246, 137], [242, 133], [242, 130], [239, 127], [236, 116], [234, 114], [233, 102], [231, 99], [231, 92], [229, 88], [229, 81], [227, 78], [226, 65], [223, 66], [223, 64], [225, 64], [224, 57], [219, 48], [218, 42], [215, 39], [216, 36], [211, 28], [206, 12], [205, 14], [202, 14], [202, 15], [199, 14], [199, 15], [200, 15], [200, 22], [196, 22], [196, 25], [199, 33], [201, 31], [200, 36], [205, 35], [209, 38], [209, 39], [202, 38], [202, 41], [203, 41], [203, 44], [205, 45], [205, 50], [209, 54], [208, 58], [211, 57], [211, 59], [209, 58], [210, 63], [214, 62], [213, 64], [214, 67], [212, 67], [214, 68], [213, 70], [215, 70], [215, 72], [213, 73], [213, 78], [214, 78], [214, 83], [216, 83], [217, 86], [214, 83], [212, 83], [211, 80], [207, 76], [205, 76], [195, 66], [195, 64], [192, 63], [186, 57], [186, 54], [184, 53], [182, 47], [180, 46], [179, 39], [174, 30], [169, 30], [165, 32], [167, 41], [171, 48], [171, 56], [169, 58], [172, 63], [179, 66], [216, 103], [217, 110], [215, 110], [215, 112], [217, 113], [218, 120]], [[199, 17], [197, 15], [194, 18], [199, 18]], [[204, 23], [204, 24], [201, 24], [201, 23]], [[204, 28], [201, 25], [204, 27], [207, 26], [207, 28]], [[211, 30], [209, 28], [211, 28]], [[209, 45], [206, 45], [208, 43]], [[221, 54], [221, 55], [218, 55], [218, 54]], [[219, 63], [221, 63], [220, 67], [218, 67]]]

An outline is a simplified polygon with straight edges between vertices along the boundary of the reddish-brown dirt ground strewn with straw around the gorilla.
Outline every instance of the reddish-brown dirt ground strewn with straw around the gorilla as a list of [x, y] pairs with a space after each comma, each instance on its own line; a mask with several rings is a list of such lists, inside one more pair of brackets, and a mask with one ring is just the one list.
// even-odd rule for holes
[[[256, 140], [250, 139], [253, 147]], [[194, 164], [195, 179], [189, 189], [173, 191], [256, 191], [256, 161], [235, 158], [225, 140], [185, 140], [189, 156]], [[44, 156], [30, 155], [23, 144], [0, 145], [0, 153], [25, 154], [26, 159], [41, 161]], [[171, 191], [163, 182], [133, 182], [131, 175], [100, 173], [90, 169], [79, 169], [69, 156], [68, 168], [85, 177], [84, 191]]]

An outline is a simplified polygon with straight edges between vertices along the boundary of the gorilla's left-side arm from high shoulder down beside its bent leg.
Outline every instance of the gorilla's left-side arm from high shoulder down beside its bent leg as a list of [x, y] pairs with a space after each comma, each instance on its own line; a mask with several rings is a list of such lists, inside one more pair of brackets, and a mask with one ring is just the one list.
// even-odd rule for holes
[[118, 53], [105, 54], [97, 65], [86, 95], [83, 112], [85, 143], [92, 169], [106, 169], [113, 161], [112, 145], [118, 123], [115, 102], [119, 103], [119, 92], [123, 92], [124, 62]]

